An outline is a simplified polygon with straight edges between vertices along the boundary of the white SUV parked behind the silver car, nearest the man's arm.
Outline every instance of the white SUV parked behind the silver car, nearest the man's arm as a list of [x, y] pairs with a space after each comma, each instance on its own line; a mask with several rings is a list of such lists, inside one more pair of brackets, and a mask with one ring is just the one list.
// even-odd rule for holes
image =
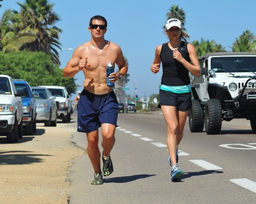
[[[63, 123], [68, 123], [71, 120], [71, 99], [68, 94], [68, 91], [65, 87], [57, 86], [57, 85], [42, 85], [40, 87], [46, 87], [51, 91], [53, 96], [56, 96], [57, 102], [57, 119], [62, 119]], [[59, 106], [58, 106], [59, 104]]]

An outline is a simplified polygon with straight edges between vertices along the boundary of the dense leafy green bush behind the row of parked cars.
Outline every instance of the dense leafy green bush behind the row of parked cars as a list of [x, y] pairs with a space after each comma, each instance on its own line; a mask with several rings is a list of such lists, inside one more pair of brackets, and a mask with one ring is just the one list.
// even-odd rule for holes
[[31, 86], [62, 85], [69, 94], [77, 89], [75, 79], [63, 77], [62, 69], [44, 52], [0, 52], [0, 73], [13, 79], [26, 79]]

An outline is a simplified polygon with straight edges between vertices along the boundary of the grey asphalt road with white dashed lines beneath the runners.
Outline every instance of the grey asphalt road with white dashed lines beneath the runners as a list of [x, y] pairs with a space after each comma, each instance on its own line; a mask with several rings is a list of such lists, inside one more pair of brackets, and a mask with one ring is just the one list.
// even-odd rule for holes
[[[114, 173], [103, 185], [91, 185], [88, 155], [78, 156], [69, 168], [69, 203], [255, 203], [256, 135], [249, 121], [223, 122], [219, 135], [191, 133], [187, 122], [179, 145], [180, 182], [170, 181], [161, 114], [120, 114], [118, 126]], [[72, 141], [86, 149], [85, 134], [74, 132]]]

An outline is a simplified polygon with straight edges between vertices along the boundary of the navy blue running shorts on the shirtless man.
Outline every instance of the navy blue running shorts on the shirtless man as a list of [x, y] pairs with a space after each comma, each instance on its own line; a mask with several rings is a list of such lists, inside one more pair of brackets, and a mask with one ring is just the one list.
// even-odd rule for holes
[[106, 94], [93, 94], [83, 90], [79, 100], [77, 117], [78, 132], [92, 132], [101, 123], [117, 126], [118, 101], [114, 91]]

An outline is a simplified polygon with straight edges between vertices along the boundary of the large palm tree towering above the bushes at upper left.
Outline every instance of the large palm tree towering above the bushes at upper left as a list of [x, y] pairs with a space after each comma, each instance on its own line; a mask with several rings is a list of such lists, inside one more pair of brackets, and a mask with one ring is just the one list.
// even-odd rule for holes
[[[21, 6], [21, 11], [12, 11], [8, 35], [11, 40], [5, 43], [11, 45], [4, 48], [5, 51], [25, 50], [43, 51], [50, 55], [53, 62], [60, 64], [59, 53], [61, 49], [59, 33], [62, 29], [54, 24], [60, 20], [59, 16], [53, 11], [54, 4], [48, 4], [48, 0], [25, 0], [25, 4], [17, 3]], [[6, 33], [7, 34], [7, 33]], [[31, 42], [21, 40], [20, 37], [33, 37]], [[10, 39], [10, 38], [8, 38]]]

